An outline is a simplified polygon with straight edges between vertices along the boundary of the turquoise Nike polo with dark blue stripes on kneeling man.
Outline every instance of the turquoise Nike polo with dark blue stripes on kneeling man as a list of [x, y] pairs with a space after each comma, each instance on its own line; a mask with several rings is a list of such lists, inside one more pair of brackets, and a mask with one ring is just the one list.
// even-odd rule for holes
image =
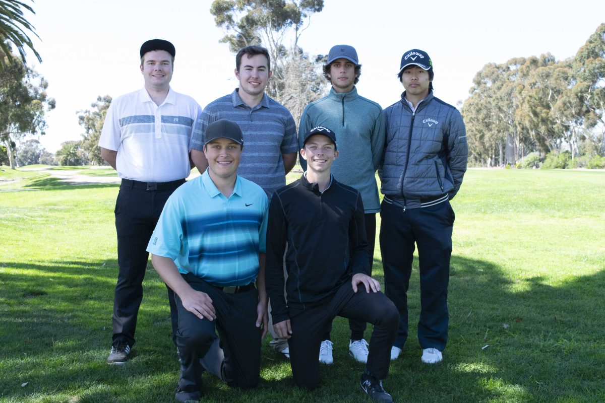
[[226, 198], [206, 170], [172, 193], [147, 251], [212, 285], [247, 285], [266, 252], [268, 205], [263, 189], [241, 176]]

